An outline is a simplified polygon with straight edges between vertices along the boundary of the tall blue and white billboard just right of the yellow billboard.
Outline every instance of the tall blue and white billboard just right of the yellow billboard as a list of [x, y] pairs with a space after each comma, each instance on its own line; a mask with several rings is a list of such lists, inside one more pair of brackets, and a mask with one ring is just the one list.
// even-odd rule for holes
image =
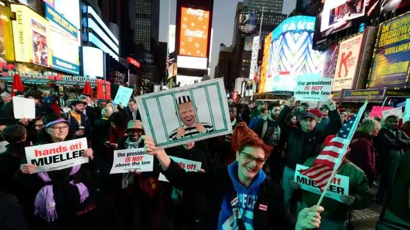
[[46, 4], [46, 18], [50, 22], [51, 68], [79, 74], [78, 30], [63, 15]]

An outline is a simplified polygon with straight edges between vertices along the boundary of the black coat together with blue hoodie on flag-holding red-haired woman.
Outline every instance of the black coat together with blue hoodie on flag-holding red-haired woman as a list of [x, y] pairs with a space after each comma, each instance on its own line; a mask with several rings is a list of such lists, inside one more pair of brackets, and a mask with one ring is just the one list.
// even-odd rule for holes
[[[238, 162], [235, 161], [228, 169], [220, 168], [212, 173], [186, 172], [171, 160], [168, 170], [162, 173], [179, 190], [209, 195], [207, 215], [200, 229], [234, 229], [232, 225], [227, 226], [227, 220], [232, 220], [230, 202], [233, 193], [239, 195], [238, 205], [242, 210], [247, 210], [244, 213], [245, 225], [252, 224], [255, 230], [277, 229], [278, 226], [284, 230], [295, 229], [295, 223], [288, 217], [284, 206], [281, 187], [266, 180], [264, 173], [260, 172], [249, 189], [246, 189], [237, 180], [237, 170]], [[263, 205], [267, 208], [263, 208]], [[248, 219], [251, 213], [253, 218]]]

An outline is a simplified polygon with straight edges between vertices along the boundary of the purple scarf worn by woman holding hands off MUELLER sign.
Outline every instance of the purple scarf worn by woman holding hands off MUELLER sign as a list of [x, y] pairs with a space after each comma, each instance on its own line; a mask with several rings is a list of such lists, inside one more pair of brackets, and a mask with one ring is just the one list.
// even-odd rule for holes
[[[78, 172], [81, 165], [74, 166], [71, 169], [70, 176]], [[50, 177], [46, 172], [37, 173], [44, 182], [51, 181]], [[83, 183], [75, 183], [74, 180], [70, 181], [70, 184], [77, 186], [78, 193], [80, 194], [80, 203], [83, 203], [89, 196], [87, 186]], [[52, 222], [57, 218], [57, 213], [55, 211], [55, 201], [53, 193], [53, 185], [46, 185], [37, 193], [34, 201], [34, 215], [38, 215], [48, 222]]]

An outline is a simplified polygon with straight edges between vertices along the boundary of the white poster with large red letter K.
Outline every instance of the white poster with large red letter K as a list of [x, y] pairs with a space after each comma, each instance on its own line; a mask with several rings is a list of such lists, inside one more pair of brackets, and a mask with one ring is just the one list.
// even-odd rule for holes
[[361, 53], [363, 33], [339, 43], [333, 91], [352, 89]]

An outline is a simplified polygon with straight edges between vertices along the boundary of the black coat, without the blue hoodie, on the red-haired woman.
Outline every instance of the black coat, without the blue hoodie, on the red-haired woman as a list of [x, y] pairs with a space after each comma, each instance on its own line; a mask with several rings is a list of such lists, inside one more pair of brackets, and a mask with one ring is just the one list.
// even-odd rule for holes
[[[167, 171], [162, 172], [167, 179], [179, 190], [191, 193], [206, 193], [209, 197], [208, 211], [200, 229], [217, 229], [218, 216], [224, 196], [234, 190], [228, 169], [221, 168], [212, 173], [186, 172], [179, 164], [171, 160]], [[288, 216], [284, 206], [283, 191], [281, 187], [269, 180], [264, 180], [260, 185], [260, 191], [255, 207], [259, 204], [267, 204], [268, 210], [261, 211], [255, 208], [254, 229], [295, 229], [295, 223]]]

